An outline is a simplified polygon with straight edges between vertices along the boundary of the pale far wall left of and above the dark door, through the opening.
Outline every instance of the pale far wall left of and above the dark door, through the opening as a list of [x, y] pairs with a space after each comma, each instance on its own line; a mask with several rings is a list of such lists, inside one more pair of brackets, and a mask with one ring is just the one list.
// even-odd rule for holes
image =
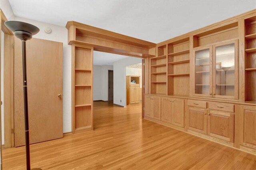
[[113, 70], [113, 65], [94, 65], [93, 67], [93, 100], [108, 101], [108, 70]]

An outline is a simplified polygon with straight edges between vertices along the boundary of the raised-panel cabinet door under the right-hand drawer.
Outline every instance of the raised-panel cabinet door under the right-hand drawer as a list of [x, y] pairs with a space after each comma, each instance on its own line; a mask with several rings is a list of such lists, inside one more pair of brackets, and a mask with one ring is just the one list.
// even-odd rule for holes
[[234, 142], [234, 114], [209, 111], [207, 134], [228, 142]]

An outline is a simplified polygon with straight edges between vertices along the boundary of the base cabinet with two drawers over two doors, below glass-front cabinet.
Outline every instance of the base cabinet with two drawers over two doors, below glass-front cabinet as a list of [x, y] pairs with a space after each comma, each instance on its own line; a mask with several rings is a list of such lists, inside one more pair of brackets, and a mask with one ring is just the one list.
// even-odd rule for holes
[[[190, 107], [191, 103], [196, 107]], [[207, 102], [188, 100], [188, 129], [228, 142], [234, 142], [234, 113], [206, 109], [205, 103]], [[223, 107], [223, 103], [208, 102], [208, 108], [212, 105], [217, 109], [234, 110], [234, 105], [232, 105], [233, 107], [230, 105]]]

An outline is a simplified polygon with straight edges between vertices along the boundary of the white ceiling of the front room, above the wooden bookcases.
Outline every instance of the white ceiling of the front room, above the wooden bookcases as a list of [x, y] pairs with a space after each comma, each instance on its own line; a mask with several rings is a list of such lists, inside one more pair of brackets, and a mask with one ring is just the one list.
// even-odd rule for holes
[[255, 0], [9, 0], [15, 16], [65, 26], [74, 20], [159, 43], [253, 10]]

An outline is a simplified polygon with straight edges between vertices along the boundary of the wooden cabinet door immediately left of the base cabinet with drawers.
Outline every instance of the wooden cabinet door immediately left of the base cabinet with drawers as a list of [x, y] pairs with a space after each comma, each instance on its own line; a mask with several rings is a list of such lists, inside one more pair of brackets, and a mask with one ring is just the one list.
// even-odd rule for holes
[[172, 99], [172, 125], [184, 127], [184, 99]]

